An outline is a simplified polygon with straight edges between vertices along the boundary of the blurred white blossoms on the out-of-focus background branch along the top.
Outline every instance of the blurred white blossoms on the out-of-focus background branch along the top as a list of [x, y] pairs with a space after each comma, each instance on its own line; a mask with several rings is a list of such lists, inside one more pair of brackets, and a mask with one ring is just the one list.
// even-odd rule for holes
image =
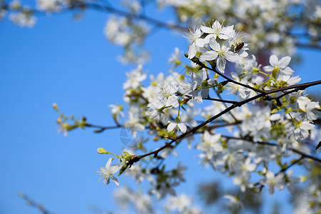
[[[141, 1], [123, 0], [121, 3], [125, 9], [123, 14], [128, 15], [124, 16], [126, 18], [111, 16], [106, 22], [105, 31], [109, 41], [123, 47], [124, 52], [120, 57], [123, 63], [141, 63], [149, 58], [143, 44], [155, 24], [168, 29], [182, 30], [184, 26], [220, 17], [221, 20], [234, 23], [235, 28], [243, 29], [249, 35], [248, 41], [255, 44], [251, 51], [257, 54], [269, 49], [272, 54], [292, 56], [301, 39], [307, 39], [312, 44], [318, 44], [320, 41], [321, 4], [318, 0], [157, 0], [155, 5], [158, 8], [174, 8], [172, 11], [175, 11], [175, 16], [178, 17], [177, 21], [163, 22], [145, 17]], [[36, 24], [35, 14], [39, 12], [52, 14], [78, 9], [74, 18], [79, 19], [86, 9], [103, 11], [108, 6], [110, 5], [102, 2], [94, 4], [85, 0], [36, 0], [36, 7], [31, 9], [30, 6], [22, 6], [19, 0], [13, 0], [8, 4], [0, 1], [0, 19], [9, 14], [9, 18], [15, 24], [32, 27]], [[113, 11], [113, 8], [110, 9]], [[117, 11], [116, 9], [116, 14]], [[142, 23], [142, 20], [146, 23]]]

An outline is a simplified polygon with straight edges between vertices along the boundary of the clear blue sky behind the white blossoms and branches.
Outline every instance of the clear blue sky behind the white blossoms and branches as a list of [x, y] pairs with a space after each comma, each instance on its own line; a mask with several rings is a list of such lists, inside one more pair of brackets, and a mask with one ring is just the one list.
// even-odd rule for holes
[[[98, 155], [96, 149], [119, 153], [119, 132], [73, 131], [64, 137], [51, 108], [58, 103], [66, 114], [113, 125], [108, 104], [122, 103], [125, 71], [131, 66], [116, 61], [121, 50], [103, 35], [106, 18], [96, 12], [87, 12], [76, 22], [69, 14], [41, 16], [34, 29], [0, 22], [0, 213], [39, 213], [25, 205], [19, 191], [55, 213], [90, 213], [91, 205], [115, 210], [111, 194], [116, 185], [103, 186], [96, 173], [108, 157]], [[169, 68], [168, 56], [175, 46], [187, 51], [188, 44], [180, 34], [160, 30], [147, 46], [153, 61], [146, 68], [157, 74]], [[302, 82], [320, 80], [320, 51], [299, 49], [298, 54], [303, 63], [295, 70]], [[179, 153], [195, 156], [183, 147]], [[195, 198], [191, 185], [220, 178], [196, 164], [190, 167], [188, 183], [179, 191], [188, 189]], [[120, 181], [133, 183], [124, 176]]]

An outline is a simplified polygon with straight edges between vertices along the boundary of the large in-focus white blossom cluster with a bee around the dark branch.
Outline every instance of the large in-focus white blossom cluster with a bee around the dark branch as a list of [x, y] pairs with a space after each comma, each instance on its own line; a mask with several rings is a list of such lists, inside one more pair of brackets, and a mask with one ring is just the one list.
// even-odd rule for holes
[[[272, 54], [269, 65], [260, 65], [254, 55], [248, 55], [250, 45], [246, 44], [245, 35], [234, 26], [224, 26], [219, 21], [210, 26], [195, 27], [186, 35], [190, 40], [187, 54], [192, 61], [190, 66], [182, 63], [180, 51], [176, 49], [169, 60], [173, 63], [169, 75], [151, 75], [149, 86], [143, 84], [147, 78], [143, 66], [126, 73], [128, 80], [123, 85], [126, 90], [123, 99], [128, 107], [113, 106], [117, 123], [124, 120], [123, 125], [132, 128], [133, 136], [137, 131], [147, 129], [148, 136], [160, 142], [191, 130], [202, 121], [201, 118], [207, 120], [225, 111], [233, 101], [223, 100], [222, 96], [231, 98], [228, 94], [234, 94], [239, 103], [247, 102], [200, 128], [198, 136], [186, 136], [188, 147], [193, 145], [200, 151], [201, 164], [233, 175], [233, 183], [241, 192], [259, 191], [265, 185], [268, 185], [270, 195], [276, 188], [295, 192], [297, 183], [308, 179], [302, 180], [287, 169], [292, 163], [303, 163], [307, 172], [313, 167], [314, 163], [297, 151], [312, 153], [305, 141], [320, 138], [320, 130], [313, 124], [320, 104], [312, 101], [304, 90], [285, 89], [268, 97], [260, 96], [260, 90], [279, 90], [300, 82], [300, 77], [293, 76], [294, 71], [289, 66], [291, 57], [277, 58]], [[183, 66], [185, 74], [174, 71], [178, 66]], [[232, 68], [233, 72], [226, 72]], [[228, 82], [220, 77], [223, 73], [230, 73]], [[225, 127], [225, 131], [217, 131], [219, 127]], [[126, 152], [135, 156], [139, 151], [153, 151], [147, 141], [137, 141], [137, 145], [126, 148]], [[177, 156], [175, 146], [168, 146], [158, 156], [162, 159], [170, 154]], [[275, 170], [275, 166], [279, 170]], [[149, 180], [149, 193], [163, 198], [167, 194], [175, 195], [175, 186], [185, 180], [184, 171], [185, 166], [180, 165], [166, 171], [136, 163], [126, 170], [126, 175], [133, 176], [138, 183]], [[312, 194], [305, 193], [304, 197]], [[238, 201], [231, 195], [226, 198], [230, 203]], [[309, 207], [310, 210], [318, 208], [315, 204]]]

